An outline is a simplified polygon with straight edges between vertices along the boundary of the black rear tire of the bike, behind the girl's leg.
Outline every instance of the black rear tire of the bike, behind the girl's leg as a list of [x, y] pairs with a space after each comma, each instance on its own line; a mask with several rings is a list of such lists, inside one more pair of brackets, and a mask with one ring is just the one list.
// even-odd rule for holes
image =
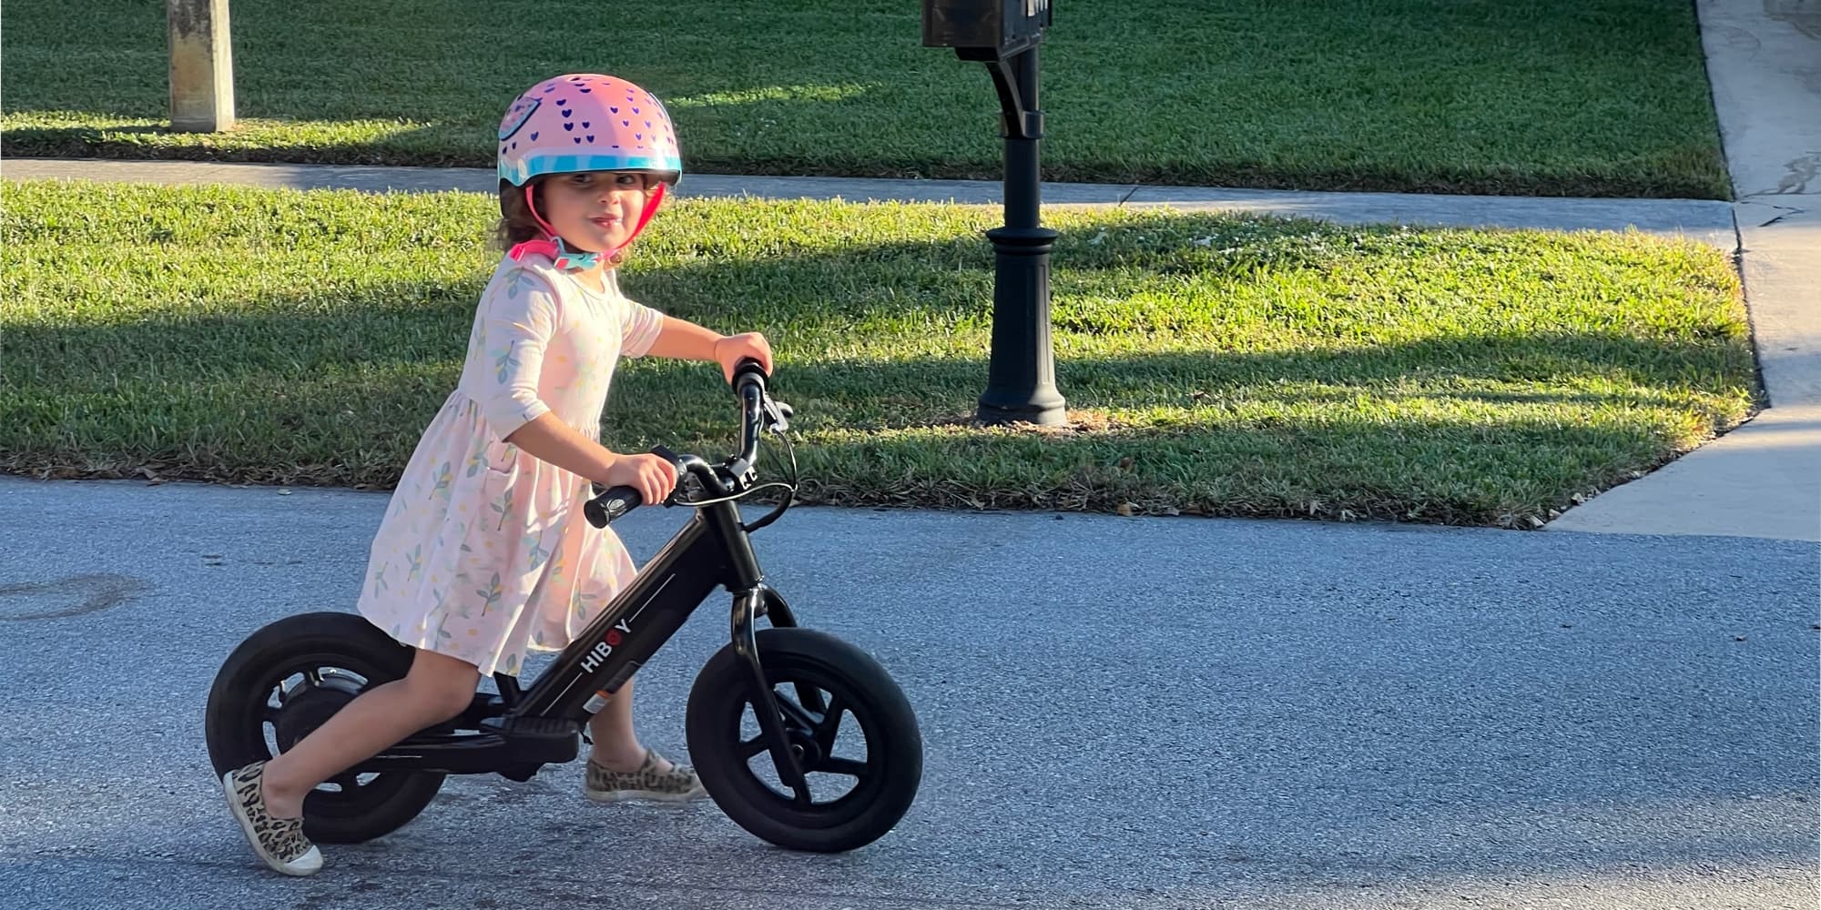
[[[209, 763], [215, 764], [217, 777], [248, 763], [270, 759], [273, 755], [268, 741], [268, 726], [273, 741], [279, 739], [279, 712], [270, 704], [275, 690], [288, 679], [322, 670], [342, 670], [361, 679], [337, 675], [331, 682], [341, 686], [328, 693], [319, 692], [319, 712], [333, 708], [353, 692], [368, 686], [402, 679], [412, 668], [412, 648], [392, 641], [366, 619], [353, 613], [304, 613], [280, 619], [240, 642], [220, 672], [215, 686], [209, 688], [209, 704], [204, 712], [204, 737], [209, 746]], [[346, 690], [346, 692], [342, 692]], [[320, 724], [317, 717], [308, 728]], [[295, 741], [308, 728], [290, 724], [288, 739]], [[280, 741], [279, 748], [290, 748]], [[319, 786], [304, 797], [304, 834], [311, 841], [330, 844], [348, 844], [371, 841], [399, 830], [417, 817], [424, 806], [435, 799], [443, 788], [439, 772], [386, 772], [379, 775], [344, 775], [335, 790]]]

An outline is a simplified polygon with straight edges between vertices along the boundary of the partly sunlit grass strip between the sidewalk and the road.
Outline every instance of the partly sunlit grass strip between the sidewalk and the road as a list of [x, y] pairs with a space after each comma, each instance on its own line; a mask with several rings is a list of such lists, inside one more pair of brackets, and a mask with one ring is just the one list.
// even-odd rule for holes
[[[0, 184], [0, 470], [390, 486], [499, 253], [479, 195]], [[985, 430], [992, 207], [687, 200], [628, 291], [765, 331], [803, 499], [1528, 526], [1752, 408], [1737, 280], [1643, 235], [1054, 211], [1060, 431]], [[716, 368], [606, 442], [719, 457]]]

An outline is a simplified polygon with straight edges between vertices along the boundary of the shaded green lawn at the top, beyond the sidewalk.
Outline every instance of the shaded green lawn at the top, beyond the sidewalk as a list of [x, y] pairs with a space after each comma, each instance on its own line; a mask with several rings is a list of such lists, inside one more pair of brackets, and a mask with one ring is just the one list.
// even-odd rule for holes
[[[910, 0], [235, 0], [233, 36], [242, 127], [177, 135], [164, 4], [11, 4], [0, 151], [486, 167], [519, 91], [605, 69], [694, 169], [1000, 173]], [[1692, 4], [1063, 0], [1043, 107], [1051, 180], [1730, 198]]]

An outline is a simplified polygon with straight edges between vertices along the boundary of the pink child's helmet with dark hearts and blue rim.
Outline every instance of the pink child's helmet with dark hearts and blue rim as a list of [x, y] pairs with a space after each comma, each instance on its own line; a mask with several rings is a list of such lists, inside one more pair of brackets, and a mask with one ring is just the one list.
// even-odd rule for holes
[[[570, 73], [532, 86], [499, 122], [501, 184], [523, 186], [532, 202], [534, 177], [577, 171], [652, 171], [663, 180], [626, 237], [630, 244], [657, 213], [665, 186], [683, 178], [670, 113], [652, 93], [599, 73]], [[532, 215], [555, 237], [535, 204]]]

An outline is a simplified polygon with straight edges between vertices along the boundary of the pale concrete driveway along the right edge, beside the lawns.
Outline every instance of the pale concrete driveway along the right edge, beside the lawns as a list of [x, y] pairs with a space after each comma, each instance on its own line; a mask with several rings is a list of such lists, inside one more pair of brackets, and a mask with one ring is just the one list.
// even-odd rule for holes
[[1550, 524], [1821, 539], [1821, 4], [1701, 0], [1739, 264], [1770, 406]]

